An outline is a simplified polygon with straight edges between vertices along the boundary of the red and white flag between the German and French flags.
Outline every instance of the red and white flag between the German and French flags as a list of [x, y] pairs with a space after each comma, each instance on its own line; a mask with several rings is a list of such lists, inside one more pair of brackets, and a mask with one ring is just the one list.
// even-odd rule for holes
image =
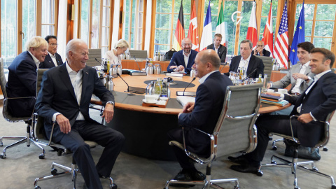
[[199, 51], [199, 44], [198, 44], [198, 32], [197, 32], [197, 17], [196, 17], [196, 5], [195, 1], [193, 1], [193, 4], [191, 5], [193, 7], [193, 10], [191, 10], [191, 17], [190, 17], [190, 25], [189, 25], [189, 31], [188, 31], [188, 38], [191, 39], [191, 43], [193, 43], [193, 46], [191, 49]]

